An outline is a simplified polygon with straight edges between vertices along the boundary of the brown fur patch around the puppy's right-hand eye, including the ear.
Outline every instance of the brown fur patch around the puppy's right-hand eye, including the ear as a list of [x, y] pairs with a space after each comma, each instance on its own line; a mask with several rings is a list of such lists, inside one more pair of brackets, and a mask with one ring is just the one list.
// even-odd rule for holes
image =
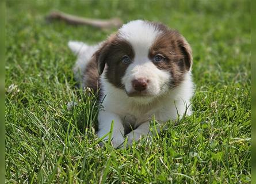
[[165, 25], [151, 23], [162, 31], [150, 48], [148, 57], [153, 60], [154, 56], [161, 54], [165, 57], [161, 62], [154, 62], [161, 70], [170, 71], [172, 80], [170, 87], [176, 87], [184, 80], [184, 74], [192, 65], [192, 51], [184, 37], [177, 31], [168, 29]]

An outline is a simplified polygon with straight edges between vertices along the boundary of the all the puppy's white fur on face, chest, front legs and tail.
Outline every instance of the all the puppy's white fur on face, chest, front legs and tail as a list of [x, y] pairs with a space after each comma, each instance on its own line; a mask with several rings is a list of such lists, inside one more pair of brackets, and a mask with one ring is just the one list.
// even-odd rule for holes
[[[170, 72], [159, 70], [148, 59], [148, 49], [161, 31], [147, 22], [137, 20], [123, 25], [119, 33], [123, 39], [132, 45], [133, 51], [135, 51], [133, 63], [129, 65], [121, 79], [127, 92], [109, 83], [104, 71], [100, 76], [104, 109], [100, 110], [98, 114], [99, 137], [109, 139], [109, 131], [113, 122], [111, 138], [114, 147], [119, 147], [125, 141], [124, 129], [129, 125], [137, 127], [126, 135], [128, 143], [131, 144], [133, 140], [139, 140], [143, 135], [150, 134], [150, 120], [153, 116], [159, 123], [163, 123], [177, 119], [178, 114], [181, 116], [185, 113], [190, 115], [192, 110], [189, 105], [193, 95], [190, 71], [185, 74], [185, 79], [179, 87], [169, 89], [167, 84], [172, 79]], [[73, 48], [73, 52], [74, 50], [77, 51], [78, 44], [72, 44], [70, 47]], [[86, 67], [85, 60], [90, 59], [98, 46], [91, 47], [90, 52], [87, 52], [90, 48], [88, 45], [82, 48], [85, 49], [82, 51], [81, 60], [78, 58], [74, 71], [77, 71], [77, 68]], [[146, 78], [149, 81], [147, 87], [149, 96], [129, 97], [127, 95], [127, 93], [132, 93], [131, 82], [137, 78]]]

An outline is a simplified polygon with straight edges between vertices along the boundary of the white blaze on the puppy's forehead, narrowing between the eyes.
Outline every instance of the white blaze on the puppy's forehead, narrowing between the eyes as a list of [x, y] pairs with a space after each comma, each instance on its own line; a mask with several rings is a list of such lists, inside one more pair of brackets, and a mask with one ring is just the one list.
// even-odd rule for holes
[[135, 55], [147, 56], [148, 49], [159, 34], [161, 34], [161, 30], [143, 20], [128, 22], [119, 29], [119, 37], [132, 45]]

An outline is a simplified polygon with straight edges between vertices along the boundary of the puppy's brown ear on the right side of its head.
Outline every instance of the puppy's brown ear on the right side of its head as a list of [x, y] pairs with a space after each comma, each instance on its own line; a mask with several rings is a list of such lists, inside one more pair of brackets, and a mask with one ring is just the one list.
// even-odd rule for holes
[[186, 70], [189, 71], [192, 68], [193, 64], [192, 49], [185, 38], [182, 39], [180, 47], [182, 54], [184, 55]]

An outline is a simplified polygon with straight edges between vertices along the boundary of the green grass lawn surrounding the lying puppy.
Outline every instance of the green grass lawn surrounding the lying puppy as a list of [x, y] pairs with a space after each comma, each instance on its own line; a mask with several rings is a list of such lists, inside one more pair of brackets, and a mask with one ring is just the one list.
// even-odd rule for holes
[[[193, 115], [151, 144], [100, 148], [67, 41], [114, 30], [49, 24], [52, 9], [178, 29], [193, 49]], [[250, 2], [9, 1], [6, 17], [6, 183], [250, 183]]]

